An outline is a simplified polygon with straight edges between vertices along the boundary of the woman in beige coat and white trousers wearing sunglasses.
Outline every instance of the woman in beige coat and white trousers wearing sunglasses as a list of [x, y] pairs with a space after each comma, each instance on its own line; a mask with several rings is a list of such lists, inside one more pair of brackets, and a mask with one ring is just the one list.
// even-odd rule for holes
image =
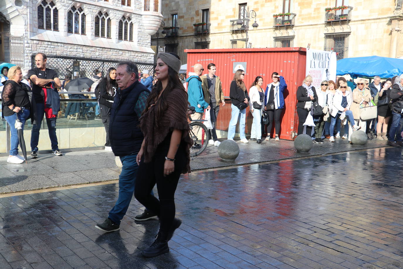
[[[350, 110], [353, 112], [354, 122], [361, 130], [366, 130], [367, 121], [363, 121], [360, 118], [360, 108], [366, 107], [369, 105], [369, 102], [372, 100], [371, 92], [367, 88], [365, 88], [366, 81], [364, 79], [357, 80], [357, 88], [353, 91], [353, 103], [351, 104]], [[353, 130], [351, 129], [351, 125], [349, 128], [349, 141]]]

